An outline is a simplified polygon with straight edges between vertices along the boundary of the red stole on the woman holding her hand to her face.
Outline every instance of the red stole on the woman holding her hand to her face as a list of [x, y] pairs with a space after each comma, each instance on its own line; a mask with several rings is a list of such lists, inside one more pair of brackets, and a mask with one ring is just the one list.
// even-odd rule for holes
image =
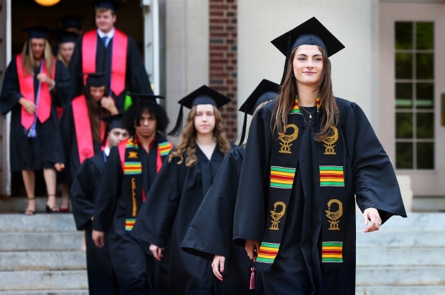
[[[92, 143], [92, 132], [88, 107], [85, 95], [79, 95], [73, 99], [73, 118], [77, 139], [77, 151], [79, 152], [80, 164], [86, 159], [94, 156], [94, 144]], [[105, 136], [105, 123], [101, 121], [101, 138]]]

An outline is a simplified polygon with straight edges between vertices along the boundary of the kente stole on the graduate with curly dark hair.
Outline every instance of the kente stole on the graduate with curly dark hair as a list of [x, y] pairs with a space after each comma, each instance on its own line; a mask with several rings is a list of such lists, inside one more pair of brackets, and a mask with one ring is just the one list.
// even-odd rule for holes
[[[156, 173], [162, 168], [164, 158], [173, 149], [173, 144], [157, 134]], [[125, 196], [125, 230], [133, 229], [139, 209], [145, 201], [144, 182], [142, 179], [142, 162], [138, 142], [131, 137], [118, 145], [120, 164], [124, 173], [123, 192]], [[127, 196], [128, 195], [128, 196]]]

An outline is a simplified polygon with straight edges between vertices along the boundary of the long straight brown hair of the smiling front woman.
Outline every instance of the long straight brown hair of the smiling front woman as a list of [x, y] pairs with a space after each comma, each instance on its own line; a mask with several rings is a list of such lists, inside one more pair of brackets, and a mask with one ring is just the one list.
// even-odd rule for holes
[[[294, 98], [298, 93], [295, 78], [292, 77], [294, 73], [293, 61], [298, 47], [292, 51], [288, 61], [288, 70], [285, 73], [283, 85], [280, 86], [279, 94], [275, 99], [271, 122], [272, 133], [275, 129], [278, 132], [285, 131], [284, 127], [288, 124], [288, 114], [294, 105]], [[327, 57], [325, 49], [318, 46], [322, 53], [323, 69], [321, 79], [318, 81], [317, 88], [320, 89], [320, 131], [315, 136], [315, 140], [322, 141], [328, 136], [331, 136], [331, 126], [336, 126], [338, 123], [337, 103], [333, 96], [332, 81], [331, 81], [331, 61]]]

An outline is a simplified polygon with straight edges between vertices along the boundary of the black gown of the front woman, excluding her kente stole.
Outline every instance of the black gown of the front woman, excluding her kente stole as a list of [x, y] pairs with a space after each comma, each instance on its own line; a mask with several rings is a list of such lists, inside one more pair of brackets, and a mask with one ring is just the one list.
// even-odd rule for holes
[[[355, 198], [364, 211], [379, 210], [382, 222], [393, 215], [406, 217], [396, 175], [364, 112], [355, 103], [337, 99], [344, 142], [346, 200], [343, 263], [338, 272], [325, 272], [321, 263], [321, 201], [310, 193], [320, 185], [312, 164], [316, 121], [304, 127], [299, 162], [283, 236], [272, 268], [263, 272], [266, 294], [355, 294]], [[242, 165], [233, 223], [234, 242], [262, 242], [268, 214], [272, 134], [269, 103], [253, 118]], [[381, 177], [385, 175], [385, 177]], [[255, 185], [254, 185], [255, 183]], [[303, 192], [304, 186], [304, 192]], [[305, 193], [309, 192], [309, 193]]]

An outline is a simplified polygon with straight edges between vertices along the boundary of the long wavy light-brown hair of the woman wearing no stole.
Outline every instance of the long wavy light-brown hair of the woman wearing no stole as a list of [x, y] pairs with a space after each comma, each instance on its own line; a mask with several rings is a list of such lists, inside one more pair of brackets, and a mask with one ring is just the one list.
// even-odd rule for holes
[[[224, 133], [223, 117], [216, 107], [213, 107], [213, 113], [215, 116], [215, 127], [213, 129], [213, 136], [216, 138], [216, 143], [218, 144], [219, 151], [223, 155], [227, 154], [229, 149], [231, 149], [229, 140]], [[196, 129], [194, 128], [194, 116], [196, 115], [196, 106], [190, 109], [188, 113], [186, 125], [183, 129], [181, 140], [177, 145], [175, 151], [170, 154], [168, 162], [170, 163], [174, 157], [180, 157], [181, 160], [178, 165], [184, 161], [183, 153], [187, 154], [186, 166], [192, 167], [198, 161], [196, 157]]]

